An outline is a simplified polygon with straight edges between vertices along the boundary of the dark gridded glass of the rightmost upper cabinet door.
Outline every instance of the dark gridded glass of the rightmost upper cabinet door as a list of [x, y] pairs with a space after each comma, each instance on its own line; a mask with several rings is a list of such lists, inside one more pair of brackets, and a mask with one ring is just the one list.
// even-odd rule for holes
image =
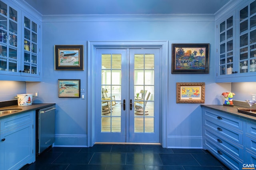
[[256, 71], [256, 1], [239, 12], [239, 73]]

